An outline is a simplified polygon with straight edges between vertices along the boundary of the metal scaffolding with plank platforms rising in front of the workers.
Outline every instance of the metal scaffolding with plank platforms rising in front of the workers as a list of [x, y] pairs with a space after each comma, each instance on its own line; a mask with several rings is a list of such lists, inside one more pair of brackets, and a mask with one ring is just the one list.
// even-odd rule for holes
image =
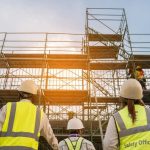
[[[74, 113], [98, 150], [130, 67], [142, 66], [149, 89], [150, 34], [130, 34], [124, 9], [89, 8], [85, 20], [82, 34], [0, 33], [0, 107], [19, 101], [18, 86], [33, 79], [58, 140]], [[49, 149], [42, 138], [39, 149]]]

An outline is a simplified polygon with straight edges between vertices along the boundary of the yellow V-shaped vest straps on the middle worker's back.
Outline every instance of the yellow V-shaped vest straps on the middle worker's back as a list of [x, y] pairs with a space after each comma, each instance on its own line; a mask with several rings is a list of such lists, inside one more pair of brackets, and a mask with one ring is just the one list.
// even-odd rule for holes
[[79, 137], [77, 141], [71, 141], [69, 138], [65, 139], [69, 150], [80, 150], [83, 138]]

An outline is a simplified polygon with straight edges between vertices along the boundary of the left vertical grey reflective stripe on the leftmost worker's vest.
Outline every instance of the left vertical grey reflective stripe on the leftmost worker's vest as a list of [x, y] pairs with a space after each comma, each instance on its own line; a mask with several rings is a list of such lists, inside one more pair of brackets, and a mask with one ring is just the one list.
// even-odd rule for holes
[[9, 117], [8, 129], [7, 129], [8, 134], [12, 132], [15, 113], [16, 113], [16, 103], [11, 103], [10, 117]]

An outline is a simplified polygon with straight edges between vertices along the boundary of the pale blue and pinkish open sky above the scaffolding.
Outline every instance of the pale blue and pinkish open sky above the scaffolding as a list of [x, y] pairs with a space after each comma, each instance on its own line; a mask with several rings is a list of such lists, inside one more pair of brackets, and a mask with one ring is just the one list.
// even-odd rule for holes
[[84, 33], [86, 8], [125, 8], [130, 33], [150, 33], [150, 0], [0, 0], [1, 32]]

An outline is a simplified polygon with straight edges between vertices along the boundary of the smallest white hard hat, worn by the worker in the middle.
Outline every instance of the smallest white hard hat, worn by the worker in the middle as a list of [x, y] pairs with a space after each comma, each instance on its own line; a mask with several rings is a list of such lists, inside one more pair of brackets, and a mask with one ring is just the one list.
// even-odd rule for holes
[[74, 117], [68, 121], [67, 130], [79, 130], [83, 128], [84, 128], [83, 123], [78, 118]]

